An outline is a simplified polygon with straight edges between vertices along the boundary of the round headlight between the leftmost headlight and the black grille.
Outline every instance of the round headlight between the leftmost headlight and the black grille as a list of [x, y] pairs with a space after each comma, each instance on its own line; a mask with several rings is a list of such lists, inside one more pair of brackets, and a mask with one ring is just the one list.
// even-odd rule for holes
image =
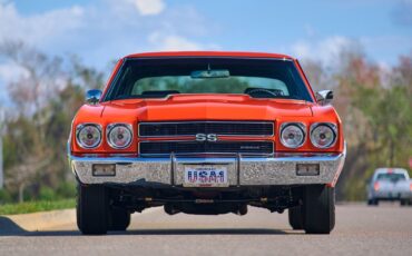
[[122, 149], [130, 146], [133, 139], [131, 126], [128, 124], [111, 124], [107, 127], [107, 142], [110, 147]]

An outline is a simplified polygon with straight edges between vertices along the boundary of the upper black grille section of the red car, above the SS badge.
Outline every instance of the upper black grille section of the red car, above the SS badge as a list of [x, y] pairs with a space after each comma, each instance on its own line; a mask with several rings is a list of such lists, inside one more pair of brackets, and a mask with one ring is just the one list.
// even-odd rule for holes
[[187, 121], [141, 122], [140, 137], [195, 136], [216, 134], [220, 136], [273, 136], [271, 121]]

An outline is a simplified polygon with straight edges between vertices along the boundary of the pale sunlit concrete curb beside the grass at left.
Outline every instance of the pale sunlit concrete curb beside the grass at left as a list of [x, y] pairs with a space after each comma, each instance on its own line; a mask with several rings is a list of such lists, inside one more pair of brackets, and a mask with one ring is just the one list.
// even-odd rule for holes
[[[1, 229], [20, 229], [21, 232], [46, 230], [51, 227], [76, 223], [75, 209], [39, 211], [33, 214], [3, 215], [0, 216]], [[12, 227], [12, 225], [14, 227]]]

